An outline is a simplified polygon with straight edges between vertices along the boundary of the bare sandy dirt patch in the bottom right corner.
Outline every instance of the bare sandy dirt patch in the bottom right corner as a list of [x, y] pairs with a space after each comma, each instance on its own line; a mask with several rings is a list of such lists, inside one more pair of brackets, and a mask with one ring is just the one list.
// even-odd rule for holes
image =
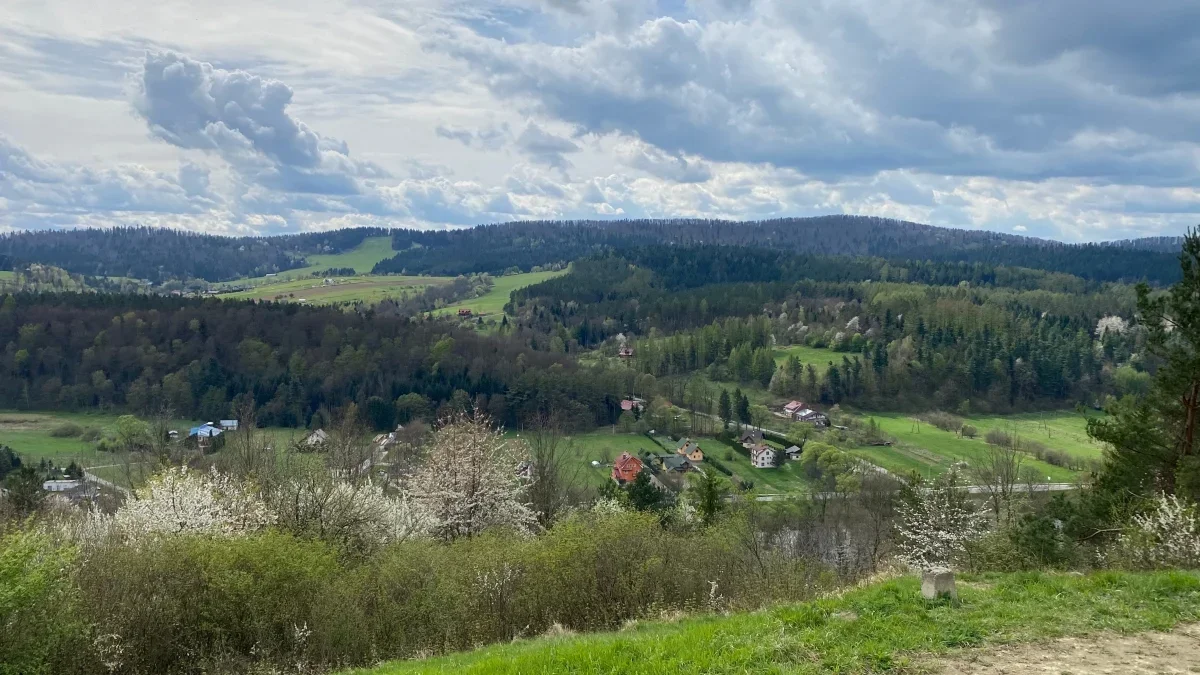
[[1200, 623], [1170, 633], [1064, 638], [992, 647], [932, 664], [942, 675], [1200, 674]]

